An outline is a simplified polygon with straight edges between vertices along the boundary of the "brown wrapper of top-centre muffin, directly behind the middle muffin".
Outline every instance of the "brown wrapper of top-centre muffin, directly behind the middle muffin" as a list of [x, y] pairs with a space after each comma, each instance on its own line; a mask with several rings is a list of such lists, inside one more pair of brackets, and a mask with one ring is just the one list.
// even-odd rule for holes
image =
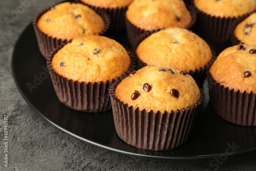
[[[186, 6], [190, 14], [192, 15], [192, 22], [188, 27], [186, 27], [186, 29], [194, 30], [194, 26], [197, 21], [197, 15], [193, 9], [190, 10], [190, 6], [188, 6], [187, 4]], [[125, 17], [125, 25], [126, 25], [127, 37], [131, 46], [133, 46], [136, 38], [139, 37], [140, 35], [144, 33], [151, 35], [155, 32], [165, 29], [165, 28], [162, 28], [162, 29], [154, 29], [154, 30], [144, 30], [132, 24], [126, 17]]]

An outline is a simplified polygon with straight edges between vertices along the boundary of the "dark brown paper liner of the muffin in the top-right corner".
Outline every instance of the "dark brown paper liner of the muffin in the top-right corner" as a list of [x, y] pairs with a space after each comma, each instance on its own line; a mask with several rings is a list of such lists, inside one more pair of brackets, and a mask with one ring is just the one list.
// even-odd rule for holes
[[249, 12], [238, 17], [216, 17], [200, 11], [191, 0], [197, 13], [197, 31], [210, 41], [225, 43], [230, 41], [231, 30], [234, 22], [242, 22], [251, 13]]

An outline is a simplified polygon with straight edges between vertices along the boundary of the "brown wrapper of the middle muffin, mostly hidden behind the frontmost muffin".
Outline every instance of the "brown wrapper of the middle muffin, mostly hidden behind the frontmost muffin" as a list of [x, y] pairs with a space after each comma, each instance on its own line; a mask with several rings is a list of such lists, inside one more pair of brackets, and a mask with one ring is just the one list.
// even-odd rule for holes
[[[148, 36], [150, 36], [150, 35], [151, 35], [151, 33], [144, 33], [144, 34], [140, 35], [139, 37], [137, 37], [137, 39], [134, 41], [134, 43], [133, 43], [133, 45], [132, 45], [132, 50], [133, 50], [133, 52], [134, 52], [134, 54], [135, 54], [135, 57], [136, 57], [136, 59], [137, 59], [137, 61], [138, 61], [138, 66], [139, 66], [139, 68], [143, 68], [143, 67], [147, 66], [147, 64], [144, 63], [142, 60], [139, 59], [139, 57], [138, 57], [137, 54], [136, 54], [136, 49], [137, 49], [137, 47], [139, 46], [139, 44], [140, 44], [144, 39], [146, 39]], [[197, 84], [198, 84], [198, 86], [199, 86], [200, 88], [202, 88], [203, 83], [204, 83], [204, 79], [206, 78], [206, 70], [207, 70], [208, 68], [210, 68], [210, 66], [212, 65], [212, 63], [213, 63], [213, 62], [216, 60], [216, 58], [217, 58], [217, 57], [216, 57], [216, 51], [215, 51], [214, 47], [210, 44], [210, 42], [208, 42], [207, 40], [205, 40], [205, 41], [206, 41], [206, 43], [208, 44], [208, 46], [210, 47], [210, 49], [211, 49], [212, 57], [211, 57], [210, 61], [209, 61], [205, 66], [200, 67], [199, 69], [196, 69], [196, 70], [194, 70], [194, 71], [190, 70], [189, 73], [188, 73], [189, 75], [191, 75], [191, 76], [195, 79], [195, 81], [197, 82]]]

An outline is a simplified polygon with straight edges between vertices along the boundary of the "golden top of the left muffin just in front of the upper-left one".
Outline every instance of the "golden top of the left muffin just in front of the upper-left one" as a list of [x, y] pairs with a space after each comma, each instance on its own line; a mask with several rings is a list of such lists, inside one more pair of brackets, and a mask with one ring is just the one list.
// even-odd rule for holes
[[104, 36], [83, 36], [59, 50], [52, 59], [53, 70], [68, 80], [106, 82], [117, 79], [131, 64], [126, 50]]

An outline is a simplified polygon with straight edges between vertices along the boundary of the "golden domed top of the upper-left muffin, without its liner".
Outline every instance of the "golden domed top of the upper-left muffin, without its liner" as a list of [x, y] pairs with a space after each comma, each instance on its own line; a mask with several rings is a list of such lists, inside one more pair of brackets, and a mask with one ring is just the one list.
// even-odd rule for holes
[[37, 26], [49, 36], [70, 40], [79, 36], [98, 35], [104, 29], [105, 23], [87, 6], [61, 3], [43, 14]]

